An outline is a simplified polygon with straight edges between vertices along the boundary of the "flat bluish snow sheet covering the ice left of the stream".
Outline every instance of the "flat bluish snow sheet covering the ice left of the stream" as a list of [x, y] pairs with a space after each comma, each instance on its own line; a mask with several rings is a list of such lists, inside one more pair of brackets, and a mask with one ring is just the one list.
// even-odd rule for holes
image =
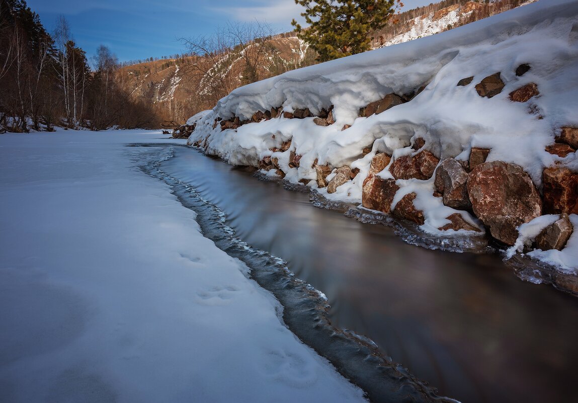
[[0, 400], [364, 401], [140, 171], [161, 136], [0, 136]]

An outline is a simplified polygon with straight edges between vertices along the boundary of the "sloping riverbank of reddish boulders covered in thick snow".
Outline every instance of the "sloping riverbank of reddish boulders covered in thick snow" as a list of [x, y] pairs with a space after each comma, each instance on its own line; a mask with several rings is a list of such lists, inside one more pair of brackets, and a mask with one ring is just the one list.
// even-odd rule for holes
[[191, 119], [189, 143], [578, 271], [576, 24], [576, 2], [535, 3], [287, 72]]

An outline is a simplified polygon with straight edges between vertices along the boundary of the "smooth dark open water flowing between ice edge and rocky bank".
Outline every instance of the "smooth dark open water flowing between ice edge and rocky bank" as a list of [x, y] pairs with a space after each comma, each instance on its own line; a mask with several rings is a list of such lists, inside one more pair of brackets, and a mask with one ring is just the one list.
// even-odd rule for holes
[[523, 282], [497, 255], [407, 245], [383, 225], [176, 147], [163, 171], [223, 210], [238, 238], [327, 295], [329, 318], [466, 402], [576, 402], [578, 299]]

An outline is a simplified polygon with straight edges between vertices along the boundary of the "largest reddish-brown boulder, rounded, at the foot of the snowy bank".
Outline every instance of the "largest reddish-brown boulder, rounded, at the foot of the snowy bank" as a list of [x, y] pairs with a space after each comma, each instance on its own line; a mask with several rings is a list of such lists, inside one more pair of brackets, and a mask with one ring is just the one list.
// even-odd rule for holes
[[542, 199], [529, 175], [516, 164], [484, 162], [468, 175], [473, 212], [495, 239], [514, 245], [516, 227], [542, 214]]

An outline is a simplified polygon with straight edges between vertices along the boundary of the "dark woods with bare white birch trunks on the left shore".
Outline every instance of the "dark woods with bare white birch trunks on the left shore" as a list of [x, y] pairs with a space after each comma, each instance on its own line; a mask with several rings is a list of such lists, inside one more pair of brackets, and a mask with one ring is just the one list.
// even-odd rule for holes
[[51, 35], [25, 0], [0, 0], [0, 131], [158, 127], [114, 79], [117, 65], [101, 46], [92, 71], [64, 17]]

